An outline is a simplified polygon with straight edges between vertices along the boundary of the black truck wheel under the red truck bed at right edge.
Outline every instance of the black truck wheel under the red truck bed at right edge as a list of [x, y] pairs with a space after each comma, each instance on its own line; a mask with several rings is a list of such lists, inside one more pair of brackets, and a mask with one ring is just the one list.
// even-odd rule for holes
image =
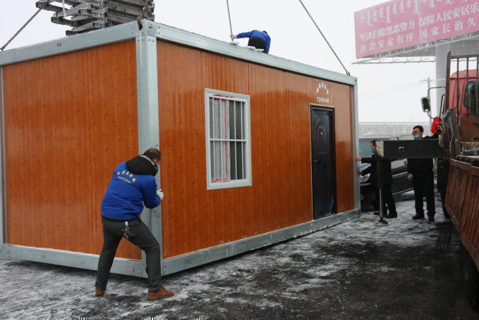
[[461, 278], [464, 294], [469, 303], [475, 307], [479, 307], [479, 272], [476, 268], [474, 260], [469, 255], [466, 248], [460, 243], [459, 245], [461, 257]]

